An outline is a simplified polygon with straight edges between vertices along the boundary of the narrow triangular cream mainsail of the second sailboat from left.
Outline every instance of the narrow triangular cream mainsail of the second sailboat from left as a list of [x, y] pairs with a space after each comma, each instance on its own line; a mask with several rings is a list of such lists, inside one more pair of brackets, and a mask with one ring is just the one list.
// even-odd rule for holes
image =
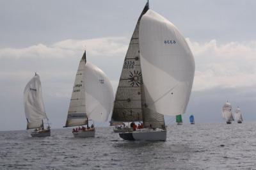
[[85, 111], [85, 88], [84, 88], [84, 69], [86, 64], [86, 52], [79, 63], [65, 127], [86, 125], [87, 116]]

